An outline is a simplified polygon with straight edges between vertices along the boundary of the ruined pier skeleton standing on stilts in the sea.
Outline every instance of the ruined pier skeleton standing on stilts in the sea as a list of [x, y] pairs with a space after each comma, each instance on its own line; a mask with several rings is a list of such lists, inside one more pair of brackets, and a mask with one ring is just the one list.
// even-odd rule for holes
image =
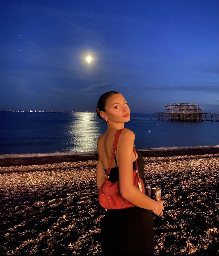
[[203, 113], [199, 105], [190, 103], [174, 103], [165, 106], [166, 112], [154, 112], [154, 120], [167, 121], [216, 121], [218, 122], [218, 113]]

